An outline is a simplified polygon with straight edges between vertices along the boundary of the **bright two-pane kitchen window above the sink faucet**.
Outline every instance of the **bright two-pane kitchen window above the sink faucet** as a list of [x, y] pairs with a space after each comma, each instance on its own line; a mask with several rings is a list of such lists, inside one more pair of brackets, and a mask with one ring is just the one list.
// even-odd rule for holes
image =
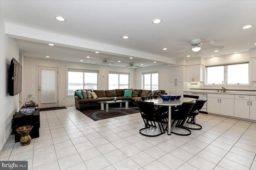
[[248, 85], [249, 63], [206, 67], [206, 85]]

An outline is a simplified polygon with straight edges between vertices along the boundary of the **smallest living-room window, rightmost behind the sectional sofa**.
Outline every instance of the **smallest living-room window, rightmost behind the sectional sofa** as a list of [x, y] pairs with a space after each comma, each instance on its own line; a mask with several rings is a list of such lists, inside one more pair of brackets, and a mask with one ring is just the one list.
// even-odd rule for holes
[[143, 89], [158, 90], [158, 71], [142, 73]]

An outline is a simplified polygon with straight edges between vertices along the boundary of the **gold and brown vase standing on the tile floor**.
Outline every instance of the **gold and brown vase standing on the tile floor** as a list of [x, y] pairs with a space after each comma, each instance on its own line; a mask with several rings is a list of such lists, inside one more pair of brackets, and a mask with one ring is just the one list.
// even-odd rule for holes
[[30, 144], [31, 136], [29, 135], [29, 132], [32, 130], [32, 128], [33, 128], [32, 125], [16, 128], [16, 131], [18, 132], [18, 134], [21, 135], [20, 143], [22, 146], [26, 146]]

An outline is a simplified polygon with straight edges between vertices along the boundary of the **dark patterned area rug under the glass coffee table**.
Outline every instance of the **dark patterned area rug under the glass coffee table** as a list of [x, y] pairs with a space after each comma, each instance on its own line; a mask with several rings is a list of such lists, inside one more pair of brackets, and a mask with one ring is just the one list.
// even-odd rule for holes
[[84, 115], [90, 117], [92, 120], [98, 121], [111, 117], [130, 115], [133, 113], [138, 113], [140, 111], [138, 109], [109, 109], [108, 112], [106, 112], [106, 109], [104, 111], [101, 111], [100, 109], [90, 109], [81, 112], [84, 113]]

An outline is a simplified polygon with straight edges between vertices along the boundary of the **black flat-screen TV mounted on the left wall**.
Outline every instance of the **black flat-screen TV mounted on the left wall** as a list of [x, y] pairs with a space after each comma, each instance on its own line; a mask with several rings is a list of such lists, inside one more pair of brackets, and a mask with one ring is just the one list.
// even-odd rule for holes
[[21, 73], [22, 67], [16, 61], [15, 58], [12, 58], [9, 70], [9, 94], [10, 96], [17, 95], [21, 93]]

